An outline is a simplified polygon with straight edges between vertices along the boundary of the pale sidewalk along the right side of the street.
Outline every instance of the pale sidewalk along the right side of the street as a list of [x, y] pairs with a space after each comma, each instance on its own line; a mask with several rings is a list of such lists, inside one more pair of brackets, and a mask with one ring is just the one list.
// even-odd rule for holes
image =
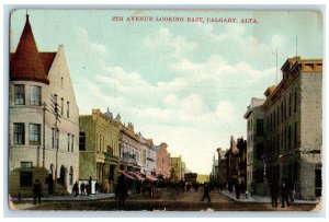
[[[236, 192], [229, 192], [228, 190], [223, 190], [220, 191], [222, 195], [228, 197], [229, 199], [234, 200], [234, 201], [238, 201], [238, 202], [263, 202], [263, 203], [271, 203], [271, 198], [270, 197], [262, 197], [262, 196], [249, 196], [248, 198], [246, 198], [246, 195], [240, 195], [240, 199], [236, 198]], [[280, 198], [279, 198], [280, 201]], [[297, 205], [303, 205], [303, 203], [308, 203], [308, 205], [317, 205], [319, 203], [319, 200], [294, 200], [293, 203], [297, 203]]]

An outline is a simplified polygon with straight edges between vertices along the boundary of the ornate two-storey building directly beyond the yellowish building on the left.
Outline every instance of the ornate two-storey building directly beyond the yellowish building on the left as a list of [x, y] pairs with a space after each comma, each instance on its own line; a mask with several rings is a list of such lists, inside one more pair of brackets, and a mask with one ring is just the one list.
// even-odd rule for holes
[[141, 148], [140, 135], [134, 131], [134, 125], [121, 124], [120, 129], [120, 165], [121, 170], [140, 173], [141, 170]]

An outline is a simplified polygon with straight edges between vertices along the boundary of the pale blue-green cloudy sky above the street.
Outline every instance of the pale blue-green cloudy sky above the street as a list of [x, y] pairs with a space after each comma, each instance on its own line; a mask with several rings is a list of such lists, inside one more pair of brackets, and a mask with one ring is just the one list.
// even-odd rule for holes
[[[11, 13], [10, 50], [25, 23]], [[29, 10], [39, 51], [64, 45], [81, 115], [107, 107], [209, 174], [217, 148], [247, 135], [251, 97], [281, 81], [288, 57], [322, 58], [322, 15], [310, 11]], [[122, 22], [113, 16], [123, 16]], [[132, 22], [131, 16], [154, 21]], [[183, 22], [155, 21], [183, 17]], [[188, 22], [203, 17], [204, 22]], [[237, 23], [207, 22], [234, 17]], [[257, 23], [241, 23], [256, 19]], [[296, 43], [297, 36], [297, 43]], [[277, 67], [275, 51], [277, 49]], [[276, 74], [277, 72], [277, 74]]]

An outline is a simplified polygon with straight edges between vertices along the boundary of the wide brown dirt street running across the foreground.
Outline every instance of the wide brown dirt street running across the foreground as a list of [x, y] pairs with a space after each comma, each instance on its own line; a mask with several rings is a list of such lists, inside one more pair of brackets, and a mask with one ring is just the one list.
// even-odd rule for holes
[[292, 203], [290, 208], [272, 208], [271, 203], [238, 202], [228, 197], [211, 192], [212, 201], [201, 201], [203, 189], [197, 192], [158, 191], [155, 196], [132, 195], [125, 207], [118, 208], [114, 198], [75, 201], [42, 201], [34, 206], [32, 201], [14, 202], [18, 210], [90, 210], [90, 211], [310, 211], [314, 203]]

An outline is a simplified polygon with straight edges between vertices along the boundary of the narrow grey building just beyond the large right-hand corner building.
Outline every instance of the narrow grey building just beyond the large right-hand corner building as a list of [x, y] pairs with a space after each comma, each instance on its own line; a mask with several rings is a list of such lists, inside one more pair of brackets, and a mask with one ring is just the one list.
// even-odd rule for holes
[[251, 98], [243, 117], [247, 119], [247, 189], [253, 194], [269, 195], [264, 177], [264, 98]]

